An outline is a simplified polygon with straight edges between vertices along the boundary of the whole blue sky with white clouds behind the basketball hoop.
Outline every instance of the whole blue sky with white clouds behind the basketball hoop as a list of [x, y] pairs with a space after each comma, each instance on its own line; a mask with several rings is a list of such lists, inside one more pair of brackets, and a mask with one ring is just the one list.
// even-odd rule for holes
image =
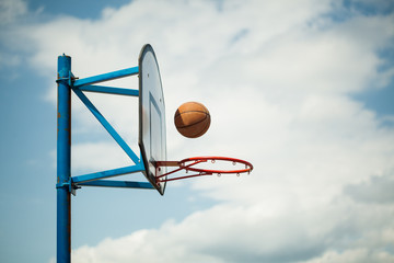
[[[0, 0], [0, 261], [56, 261], [57, 57], [85, 78], [150, 43], [169, 159], [254, 170], [78, 190], [72, 262], [393, 262], [393, 25], [390, 0]], [[137, 100], [88, 95], [137, 151]], [[173, 124], [187, 101], [210, 111], [197, 139]], [[73, 96], [72, 175], [129, 164]]]

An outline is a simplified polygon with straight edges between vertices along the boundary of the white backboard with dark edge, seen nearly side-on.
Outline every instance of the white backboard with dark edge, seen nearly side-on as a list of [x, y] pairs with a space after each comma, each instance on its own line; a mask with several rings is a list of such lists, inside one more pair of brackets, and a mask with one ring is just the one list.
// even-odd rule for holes
[[155, 162], [166, 161], [165, 105], [159, 65], [151, 45], [142, 47], [139, 57], [139, 139], [143, 172], [149, 182], [164, 194], [165, 182], [157, 184], [155, 174], [166, 173], [166, 168], [155, 171]]

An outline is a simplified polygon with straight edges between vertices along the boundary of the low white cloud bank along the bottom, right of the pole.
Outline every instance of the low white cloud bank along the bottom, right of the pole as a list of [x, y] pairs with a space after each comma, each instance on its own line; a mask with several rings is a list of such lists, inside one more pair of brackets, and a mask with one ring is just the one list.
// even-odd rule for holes
[[[263, 204], [220, 205], [182, 222], [82, 247], [72, 256], [74, 262], [390, 262], [393, 255], [384, 251], [393, 241], [390, 211], [372, 215], [354, 206], [346, 199], [315, 209], [288, 203], [271, 214]], [[357, 217], [362, 219], [355, 224]], [[382, 232], [385, 238], [378, 236]]]

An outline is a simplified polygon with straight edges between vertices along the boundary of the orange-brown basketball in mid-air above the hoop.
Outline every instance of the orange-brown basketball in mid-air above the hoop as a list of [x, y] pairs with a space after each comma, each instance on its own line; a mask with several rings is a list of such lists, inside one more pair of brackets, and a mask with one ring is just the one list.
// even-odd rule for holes
[[210, 125], [210, 115], [206, 106], [199, 102], [186, 102], [175, 112], [175, 127], [187, 138], [204, 135]]

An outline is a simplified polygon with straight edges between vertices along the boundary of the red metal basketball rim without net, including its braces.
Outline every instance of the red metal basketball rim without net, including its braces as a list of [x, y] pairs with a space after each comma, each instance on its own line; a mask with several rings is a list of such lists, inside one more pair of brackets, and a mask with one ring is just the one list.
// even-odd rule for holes
[[[198, 167], [198, 164], [217, 165], [219, 162], [225, 163], [227, 168], [211, 169], [207, 165]], [[233, 167], [229, 169], [229, 163], [235, 167], [235, 169]], [[162, 167], [178, 167], [178, 168], [171, 172], [158, 175]], [[213, 175], [213, 174], [217, 174], [218, 176], [220, 176], [221, 174], [236, 174], [239, 176], [241, 173], [250, 174], [253, 170], [253, 165], [247, 161], [230, 158], [230, 157], [192, 157], [192, 158], [186, 158], [182, 161], [158, 161], [155, 162], [155, 169], [157, 169], [157, 176], [155, 176], [157, 183], [162, 183], [162, 182], [170, 182], [181, 179]], [[182, 170], [185, 170], [186, 173], [188, 173], [189, 171], [195, 173], [185, 176], [177, 176], [171, 179], [166, 178], [167, 175], [179, 172]]]

